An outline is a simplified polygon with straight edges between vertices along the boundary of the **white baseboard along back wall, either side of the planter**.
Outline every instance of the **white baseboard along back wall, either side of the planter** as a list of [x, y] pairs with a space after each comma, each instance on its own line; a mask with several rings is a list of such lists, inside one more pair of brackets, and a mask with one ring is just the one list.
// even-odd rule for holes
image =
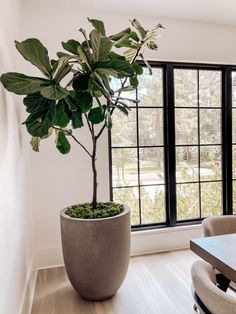
[[[201, 236], [201, 225], [135, 231], [131, 235], [131, 256], [189, 248], [190, 239]], [[64, 265], [61, 246], [37, 249], [34, 268]]]

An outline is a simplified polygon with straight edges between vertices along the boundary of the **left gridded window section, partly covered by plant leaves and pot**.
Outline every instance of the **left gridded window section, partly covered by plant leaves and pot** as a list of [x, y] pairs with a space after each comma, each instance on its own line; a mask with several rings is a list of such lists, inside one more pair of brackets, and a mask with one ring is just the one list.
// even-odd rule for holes
[[125, 97], [139, 102], [128, 119], [114, 113], [112, 196], [132, 208], [132, 225], [165, 223], [163, 69], [155, 67], [152, 76], [145, 69], [137, 91]]

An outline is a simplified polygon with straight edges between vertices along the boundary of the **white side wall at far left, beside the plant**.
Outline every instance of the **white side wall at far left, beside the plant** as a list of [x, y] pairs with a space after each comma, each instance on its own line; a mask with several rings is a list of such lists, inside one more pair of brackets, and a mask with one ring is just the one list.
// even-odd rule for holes
[[[1, 1], [0, 73], [17, 67], [13, 40], [18, 28], [17, 2]], [[19, 99], [6, 93], [1, 85], [0, 313], [4, 314], [20, 313], [33, 260], [32, 217], [27, 195], [29, 154], [19, 121]]]

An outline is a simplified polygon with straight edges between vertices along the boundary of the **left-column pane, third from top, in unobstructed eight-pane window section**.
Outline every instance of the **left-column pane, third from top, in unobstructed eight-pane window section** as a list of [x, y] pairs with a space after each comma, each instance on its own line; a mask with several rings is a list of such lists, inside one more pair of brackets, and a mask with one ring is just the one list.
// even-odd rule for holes
[[198, 180], [198, 147], [176, 147], [176, 182]]

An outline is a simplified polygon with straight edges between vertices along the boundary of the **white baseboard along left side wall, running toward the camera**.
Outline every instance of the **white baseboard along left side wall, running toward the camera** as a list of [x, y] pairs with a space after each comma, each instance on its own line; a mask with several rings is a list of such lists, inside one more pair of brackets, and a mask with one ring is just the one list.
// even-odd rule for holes
[[36, 284], [36, 277], [37, 277], [37, 270], [33, 267], [33, 262], [31, 264], [31, 267], [29, 269], [24, 292], [23, 292], [23, 298], [21, 302], [20, 307], [20, 314], [30, 314], [32, 305], [33, 305], [33, 298], [34, 298], [34, 291], [35, 291], [35, 284]]

